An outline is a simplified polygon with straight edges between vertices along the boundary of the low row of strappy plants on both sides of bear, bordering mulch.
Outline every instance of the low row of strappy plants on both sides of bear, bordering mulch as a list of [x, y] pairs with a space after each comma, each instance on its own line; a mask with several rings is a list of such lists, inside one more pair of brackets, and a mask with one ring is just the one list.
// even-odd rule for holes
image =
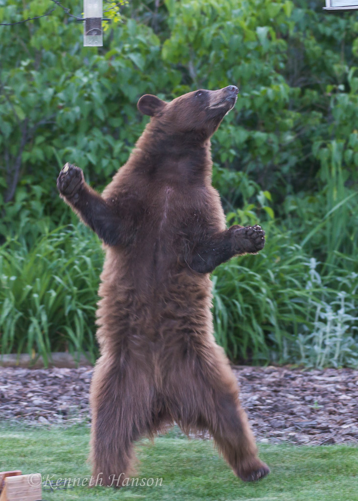
[[[253, 223], [253, 212], [244, 213], [233, 222]], [[236, 361], [355, 367], [357, 275], [331, 267], [321, 277], [320, 264], [289, 234], [273, 222], [265, 228], [259, 255], [213, 274], [217, 341]], [[46, 233], [29, 249], [15, 239], [0, 247], [2, 353], [47, 361], [51, 351], [67, 350], [94, 360], [102, 262], [98, 238], [82, 223]]]

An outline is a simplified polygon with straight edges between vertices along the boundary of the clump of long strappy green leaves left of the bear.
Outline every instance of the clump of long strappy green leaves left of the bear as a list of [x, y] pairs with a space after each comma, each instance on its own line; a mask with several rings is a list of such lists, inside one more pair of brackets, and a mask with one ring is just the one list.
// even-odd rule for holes
[[2, 353], [97, 355], [94, 320], [103, 254], [83, 224], [39, 237], [30, 248], [16, 239], [0, 247]]

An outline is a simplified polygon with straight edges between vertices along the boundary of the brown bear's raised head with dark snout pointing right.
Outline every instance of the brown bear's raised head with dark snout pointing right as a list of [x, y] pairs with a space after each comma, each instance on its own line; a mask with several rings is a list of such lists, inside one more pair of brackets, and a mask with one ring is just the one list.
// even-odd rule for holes
[[239, 90], [234, 85], [209, 91], [199, 89], [173, 99], [170, 103], [157, 96], [146, 94], [138, 101], [138, 109], [151, 117], [158, 130], [174, 136], [191, 137], [205, 141], [212, 136], [235, 105]]

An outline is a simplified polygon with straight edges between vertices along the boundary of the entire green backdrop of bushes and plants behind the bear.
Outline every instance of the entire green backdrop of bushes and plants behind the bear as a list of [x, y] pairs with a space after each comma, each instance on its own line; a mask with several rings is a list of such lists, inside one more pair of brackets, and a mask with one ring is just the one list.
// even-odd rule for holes
[[[238, 102], [212, 141], [213, 182], [228, 222], [262, 223], [267, 244], [215, 272], [217, 338], [233, 359], [356, 365], [358, 23], [321, 7], [318, 0], [133, 0], [106, 14], [114, 22], [98, 49], [82, 47], [82, 24], [61, 8], [0, 27], [2, 274], [32, 291], [22, 300], [21, 287], [7, 282], [0, 292], [3, 352], [88, 343], [95, 351], [100, 251], [88, 232], [75, 230], [75, 251], [68, 230], [54, 231], [76, 220], [56, 191], [63, 164], [76, 163], [101, 188], [146, 123], [136, 110], [140, 95], [169, 100], [235, 84]], [[81, 14], [82, 6], [71, 8]], [[24, 0], [21, 9], [0, 0], [0, 23], [48, 11], [48, 0]], [[42, 266], [41, 253], [47, 264], [36, 277], [47, 287], [49, 277], [66, 273], [72, 290], [83, 274], [87, 292], [74, 295], [78, 324], [63, 315], [66, 288], [51, 303], [28, 275], [27, 263]], [[89, 269], [85, 257], [94, 262]], [[312, 263], [319, 283], [310, 280]]]

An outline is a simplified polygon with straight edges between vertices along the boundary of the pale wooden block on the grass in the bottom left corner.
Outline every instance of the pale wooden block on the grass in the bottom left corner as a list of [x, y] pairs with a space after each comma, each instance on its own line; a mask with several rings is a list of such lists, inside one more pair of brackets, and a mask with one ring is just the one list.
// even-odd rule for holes
[[0, 501], [39, 501], [42, 499], [40, 473], [22, 475], [21, 471], [0, 473]]

